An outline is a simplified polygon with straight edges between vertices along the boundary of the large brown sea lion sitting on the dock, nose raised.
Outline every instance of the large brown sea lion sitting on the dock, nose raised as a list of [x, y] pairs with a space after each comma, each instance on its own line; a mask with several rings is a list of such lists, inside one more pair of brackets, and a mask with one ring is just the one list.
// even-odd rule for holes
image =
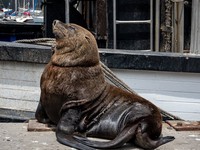
[[154, 104], [106, 82], [96, 40], [88, 30], [58, 20], [52, 26], [56, 45], [41, 76], [35, 116], [57, 125], [60, 143], [80, 150], [118, 148], [126, 142], [154, 149], [174, 140], [160, 137], [162, 117]]

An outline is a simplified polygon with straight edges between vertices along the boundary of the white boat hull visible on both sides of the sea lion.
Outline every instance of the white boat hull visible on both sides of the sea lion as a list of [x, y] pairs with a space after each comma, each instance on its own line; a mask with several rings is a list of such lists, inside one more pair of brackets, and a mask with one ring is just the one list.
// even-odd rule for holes
[[[0, 108], [35, 111], [45, 64], [0, 61]], [[113, 69], [141, 96], [186, 120], [200, 120], [200, 74]]]

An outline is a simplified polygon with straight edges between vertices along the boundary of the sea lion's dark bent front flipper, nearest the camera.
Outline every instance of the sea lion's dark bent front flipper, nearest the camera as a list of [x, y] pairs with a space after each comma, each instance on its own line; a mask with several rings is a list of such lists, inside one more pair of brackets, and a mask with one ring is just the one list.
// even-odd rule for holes
[[95, 150], [89, 146], [86, 146], [80, 142], [77, 142], [73, 138], [73, 134], [76, 131], [77, 122], [79, 121], [79, 112], [75, 109], [69, 109], [63, 112], [62, 117], [57, 125], [56, 137], [57, 141], [61, 144], [79, 149], [79, 150]]

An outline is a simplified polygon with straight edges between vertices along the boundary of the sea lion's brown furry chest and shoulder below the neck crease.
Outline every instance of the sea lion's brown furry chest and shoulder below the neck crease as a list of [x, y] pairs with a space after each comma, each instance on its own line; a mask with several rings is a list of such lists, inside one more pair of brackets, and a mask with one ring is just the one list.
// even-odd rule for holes
[[102, 75], [95, 67], [48, 64], [41, 77], [41, 103], [49, 118], [57, 122], [61, 107], [68, 101], [95, 99], [105, 86]]

